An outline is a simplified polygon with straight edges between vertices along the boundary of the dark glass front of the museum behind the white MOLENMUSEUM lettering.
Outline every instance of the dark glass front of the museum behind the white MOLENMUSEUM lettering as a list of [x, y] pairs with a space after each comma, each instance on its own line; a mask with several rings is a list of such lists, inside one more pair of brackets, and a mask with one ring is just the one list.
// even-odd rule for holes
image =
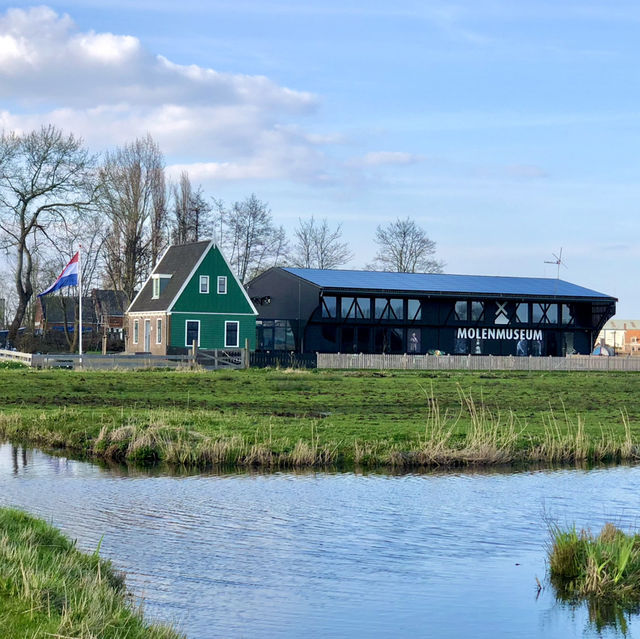
[[354, 293], [321, 295], [313, 316], [299, 322], [300, 334], [298, 320], [259, 320], [258, 348], [533, 357], [591, 347], [584, 324], [591, 315], [580, 303]]

